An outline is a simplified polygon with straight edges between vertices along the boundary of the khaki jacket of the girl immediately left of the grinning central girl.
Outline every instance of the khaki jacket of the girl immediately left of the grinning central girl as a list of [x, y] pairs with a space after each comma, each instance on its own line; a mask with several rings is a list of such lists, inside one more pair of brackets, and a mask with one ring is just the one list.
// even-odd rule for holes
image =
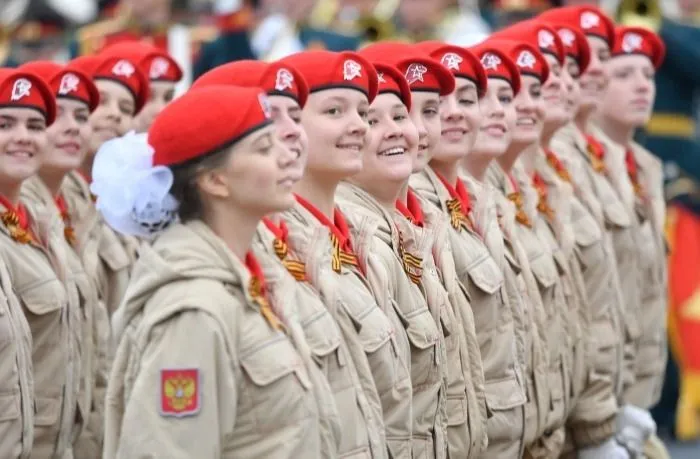
[[[411, 377], [409, 362], [400, 353], [393, 322], [378, 306], [370, 286], [357, 267], [332, 268], [329, 229], [301, 204], [283, 214], [289, 227], [290, 246], [305, 260], [311, 285], [332, 311], [353, 350], [370, 410], [366, 418], [377, 428], [370, 439], [372, 457], [406, 457], [411, 451]], [[354, 333], [353, 333], [354, 331]], [[358, 346], [364, 359], [358, 355]], [[363, 370], [369, 367], [371, 380]], [[359, 372], [359, 371], [358, 371]], [[385, 451], [380, 450], [386, 445]]]

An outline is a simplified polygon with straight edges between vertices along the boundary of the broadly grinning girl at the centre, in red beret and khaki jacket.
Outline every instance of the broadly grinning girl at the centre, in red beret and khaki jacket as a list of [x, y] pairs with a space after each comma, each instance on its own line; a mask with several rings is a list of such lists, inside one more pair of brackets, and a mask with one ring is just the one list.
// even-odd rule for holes
[[[341, 183], [338, 207], [347, 215], [356, 251], [367, 266], [366, 277], [383, 309], [402, 319], [409, 347], [413, 383], [413, 457], [447, 457], [447, 358], [439, 310], [429, 309], [421, 290], [423, 252], [407, 243], [395, 220], [396, 200], [408, 185], [418, 131], [408, 116], [411, 91], [395, 67], [373, 62], [379, 92], [368, 112], [369, 134], [362, 170]], [[426, 246], [426, 248], [429, 248]]]

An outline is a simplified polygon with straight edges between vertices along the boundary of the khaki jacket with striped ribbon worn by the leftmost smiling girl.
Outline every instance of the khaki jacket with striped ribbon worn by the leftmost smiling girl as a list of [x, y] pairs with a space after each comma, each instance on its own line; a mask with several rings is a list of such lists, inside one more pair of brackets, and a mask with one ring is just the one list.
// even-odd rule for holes
[[[25, 203], [34, 240], [0, 226], [1, 256], [32, 334], [34, 444], [31, 458], [71, 459], [79, 412], [83, 310], [70, 273], [62, 222], [55, 211]], [[0, 212], [7, 209], [0, 207]]]

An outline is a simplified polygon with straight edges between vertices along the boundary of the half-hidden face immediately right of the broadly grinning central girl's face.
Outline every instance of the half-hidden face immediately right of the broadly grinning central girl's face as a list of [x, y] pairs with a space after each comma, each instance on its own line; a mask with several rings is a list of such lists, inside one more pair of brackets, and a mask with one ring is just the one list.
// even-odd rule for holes
[[418, 131], [418, 147], [413, 172], [425, 169], [440, 141], [440, 96], [436, 92], [411, 93], [411, 121]]

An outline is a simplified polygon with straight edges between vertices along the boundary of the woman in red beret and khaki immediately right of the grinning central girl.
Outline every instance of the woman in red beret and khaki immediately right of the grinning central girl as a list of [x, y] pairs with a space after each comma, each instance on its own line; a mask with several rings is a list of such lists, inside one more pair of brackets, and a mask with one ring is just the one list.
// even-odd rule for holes
[[[450, 72], [438, 61], [422, 55], [422, 52], [398, 43], [378, 44], [362, 50], [372, 59], [395, 66], [404, 75], [414, 73], [409, 69], [417, 66], [426, 69], [422, 79], [411, 78], [409, 83], [409, 116], [418, 131], [413, 173], [427, 167], [430, 153], [440, 140], [440, 94], [451, 94], [455, 85]], [[469, 67], [468, 61], [465, 62], [460, 67], [461, 72], [470, 72]], [[421, 287], [428, 305], [433, 311], [442, 311], [436, 322], [443, 329], [448, 361], [446, 409], [449, 457], [479, 457], [488, 441], [484, 372], [474, 316], [452, 258], [448, 239], [449, 221], [439, 208], [421, 198], [410, 186], [404, 186], [401, 190], [396, 209], [399, 215], [394, 222], [404, 236], [406, 250], [423, 254]]]

